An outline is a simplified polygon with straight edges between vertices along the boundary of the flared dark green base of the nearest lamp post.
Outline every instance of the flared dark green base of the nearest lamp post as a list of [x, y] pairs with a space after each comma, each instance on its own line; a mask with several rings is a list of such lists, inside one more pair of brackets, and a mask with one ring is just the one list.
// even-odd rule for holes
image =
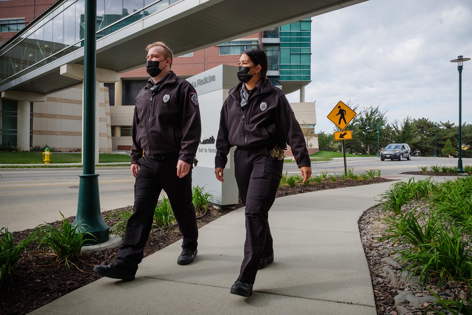
[[100, 244], [108, 241], [110, 227], [101, 217], [100, 195], [98, 191], [98, 176], [100, 174], [79, 175], [79, 200], [77, 202], [77, 216], [73, 226], [79, 226], [91, 233], [97, 240], [87, 240], [84, 245]]

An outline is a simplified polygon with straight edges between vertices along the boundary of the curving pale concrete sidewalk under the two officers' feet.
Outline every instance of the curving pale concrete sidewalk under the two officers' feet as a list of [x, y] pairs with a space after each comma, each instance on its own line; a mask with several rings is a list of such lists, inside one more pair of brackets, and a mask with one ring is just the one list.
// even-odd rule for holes
[[376, 315], [357, 220], [391, 184], [276, 199], [275, 262], [258, 272], [252, 297], [229, 293], [243, 259], [239, 209], [199, 230], [194, 263], [177, 265], [179, 240], [146, 257], [134, 281], [102, 278], [31, 314]]

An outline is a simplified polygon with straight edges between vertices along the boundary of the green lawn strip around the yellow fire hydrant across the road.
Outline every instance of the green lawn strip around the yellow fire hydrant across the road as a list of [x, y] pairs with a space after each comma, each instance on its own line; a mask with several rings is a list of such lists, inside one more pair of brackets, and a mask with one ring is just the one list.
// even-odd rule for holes
[[[51, 164], [81, 163], [81, 153], [52, 152]], [[129, 162], [129, 155], [100, 153], [100, 163]], [[0, 152], [0, 164], [37, 164], [44, 163], [42, 152]]]

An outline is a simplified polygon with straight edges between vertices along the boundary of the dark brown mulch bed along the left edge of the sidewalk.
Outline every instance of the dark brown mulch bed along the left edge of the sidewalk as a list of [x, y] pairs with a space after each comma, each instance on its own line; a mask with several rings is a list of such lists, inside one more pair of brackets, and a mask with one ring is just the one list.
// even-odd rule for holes
[[[390, 182], [391, 179], [373, 178], [366, 181], [338, 180], [332, 183], [326, 179], [321, 184], [312, 183], [309, 185], [297, 184], [294, 187], [280, 187], [277, 192], [277, 197], [293, 195], [298, 193], [308, 193], [319, 190], [343, 188], [351, 186], [360, 186], [365, 184], [377, 184]], [[218, 219], [219, 217], [235, 210], [244, 207], [243, 202], [239, 199], [239, 203], [233, 209], [215, 209], [210, 208], [208, 212], [197, 219], [198, 228], [207, 223]], [[124, 207], [118, 210], [128, 210], [132, 207]], [[102, 217], [105, 219], [106, 215], [114, 210], [102, 212]], [[69, 222], [73, 222], [74, 217], [67, 218]], [[116, 219], [115, 219], [116, 221]], [[112, 226], [116, 223], [113, 219], [105, 220], [105, 222]], [[59, 227], [60, 221], [52, 222], [51, 225]], [[14, 232], [16, 242], [28, 236], [32, 232], [31, 229]], [[173, 226], [169, 229], [160, 230], [158, 228], [153, 230], [149, 236], [146, 247], [144, 248], [144, 257], [153, 254], [160, 249], [178, 241], [182, 238], [178, 227]], [[23, 315], [33, 310], [50, 303], [51, 301], [75, 290], [84, 285], [87, 285], [101, 276], [93, 272], [93, 266], [101, 263], [112, 263], [115, 261], [118, 248], [103, 250], [99, 253], [84, 253], [79, 257], [69, 260], [71, 263], [71, 270], [67, 268], [64, 263], [60, 265], [52, 264], [53, 256], [43, 256], [35, 252], [37, 244], [30, 245], [31, 252], [25, 251], [23, 257], [16, 265], [13, 277], [5, 278], [0, 287], [0, 314], [1, 315]], [[178, 253], [176, 253], [177, 255]], [[177, 257], [176, 257], [177, 259]]]

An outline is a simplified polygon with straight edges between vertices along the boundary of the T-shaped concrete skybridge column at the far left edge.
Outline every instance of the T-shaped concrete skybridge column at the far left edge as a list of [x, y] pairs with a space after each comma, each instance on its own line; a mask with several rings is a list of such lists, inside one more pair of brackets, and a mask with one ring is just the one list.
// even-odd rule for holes
[[1, 97], [18, 102], [17, 148], [18, 151], [29, 151], [30, 104], [31, 102], [45, 102], [46, 96], [28, 92], [3, 91]]

